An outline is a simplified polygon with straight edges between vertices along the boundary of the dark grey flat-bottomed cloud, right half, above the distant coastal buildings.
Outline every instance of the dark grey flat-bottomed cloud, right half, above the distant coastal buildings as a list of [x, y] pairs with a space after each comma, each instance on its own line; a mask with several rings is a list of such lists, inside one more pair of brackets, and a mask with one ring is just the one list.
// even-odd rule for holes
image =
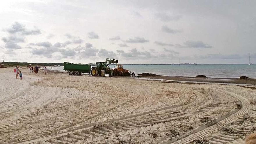
[[177, 48], [212, 48], [212, 46], [203, 43], [202, 41], [192, 41], [188, 40], [183, 43], [184, 45], [176, 44], [175, 47]]

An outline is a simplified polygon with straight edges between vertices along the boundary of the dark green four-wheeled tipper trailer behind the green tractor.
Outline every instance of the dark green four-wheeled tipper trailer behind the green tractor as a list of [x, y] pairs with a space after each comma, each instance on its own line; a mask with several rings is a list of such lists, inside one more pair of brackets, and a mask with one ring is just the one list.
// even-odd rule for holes
[[63, 70], [68, 71], [69, 75], [81, 75], [82, 73], [90, 74], [91, 67], [91, 65], [64, 62]]

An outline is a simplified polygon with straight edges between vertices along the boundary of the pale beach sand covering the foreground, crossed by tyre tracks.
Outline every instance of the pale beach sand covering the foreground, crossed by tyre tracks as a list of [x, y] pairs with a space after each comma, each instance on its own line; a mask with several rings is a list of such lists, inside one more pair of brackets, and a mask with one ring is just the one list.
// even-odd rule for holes
[[256, 91], [236, 85], [0, 69], [0, 143], [244, 143]]

